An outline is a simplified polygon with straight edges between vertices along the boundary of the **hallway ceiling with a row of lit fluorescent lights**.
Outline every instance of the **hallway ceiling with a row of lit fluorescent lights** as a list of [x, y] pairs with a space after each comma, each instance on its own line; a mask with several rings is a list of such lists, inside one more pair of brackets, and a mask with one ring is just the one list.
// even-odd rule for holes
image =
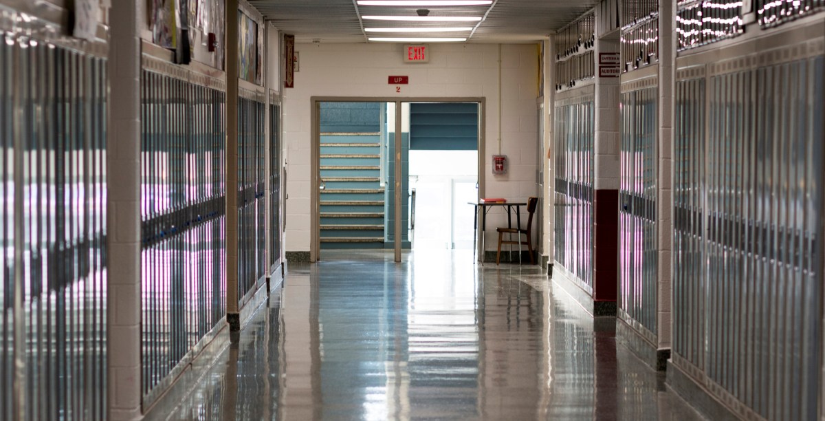
[[[295, 35], [296, 42], [367, 42], [364, 27], [433, 26], [431, 23], [366, 21], [368, 15], [416, 16], [417, 7], [356, 6], [356, 0], [248, 0], [279, 30]], [[542, 40], [558, 31], [596, 4], [597, 0], [494, 0], [482, 7], [427, 7], [430, 16], [471, 14], [480, 22], [450, 23], [474, 26], [467, 42], [520, 43]], [[436, 24], [437, 25], [437, 24]], [[370, 36], [417, 36], [374, 34]], [[462, 33], [432, 32], [424, 36], [461, 36]]]

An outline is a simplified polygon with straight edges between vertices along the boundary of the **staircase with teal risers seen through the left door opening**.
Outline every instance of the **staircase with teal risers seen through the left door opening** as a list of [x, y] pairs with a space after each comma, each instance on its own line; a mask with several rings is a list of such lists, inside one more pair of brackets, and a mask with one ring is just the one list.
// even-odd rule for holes
[[380, 139], [321, 133], [321, 248], [384, 248]]

